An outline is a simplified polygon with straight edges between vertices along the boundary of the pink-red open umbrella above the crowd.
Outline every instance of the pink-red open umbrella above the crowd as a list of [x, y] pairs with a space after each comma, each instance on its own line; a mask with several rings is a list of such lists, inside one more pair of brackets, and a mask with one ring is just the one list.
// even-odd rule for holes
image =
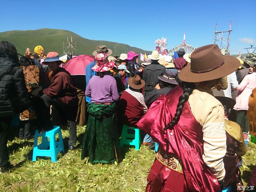
[[64, 69], [66, 69], [71, 75], [85, 75], [85, 67], [93, 62], [94, 59], [95, 57], [91, 55], [79, 55], [69, 60], [64, 65]]

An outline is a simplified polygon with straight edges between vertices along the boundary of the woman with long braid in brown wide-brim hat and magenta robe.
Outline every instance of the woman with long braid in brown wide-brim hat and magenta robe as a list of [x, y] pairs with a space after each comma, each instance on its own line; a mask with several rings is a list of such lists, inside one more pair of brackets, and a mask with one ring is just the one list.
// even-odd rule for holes
[[182, 84], [152, 103], [136, 124], [159, 144], [146, 191], [221, 191], [224, 109], [211, 87], [239, 65], [235, 57], [222, 56], [218, 45], [197, 48], [178, 74]]

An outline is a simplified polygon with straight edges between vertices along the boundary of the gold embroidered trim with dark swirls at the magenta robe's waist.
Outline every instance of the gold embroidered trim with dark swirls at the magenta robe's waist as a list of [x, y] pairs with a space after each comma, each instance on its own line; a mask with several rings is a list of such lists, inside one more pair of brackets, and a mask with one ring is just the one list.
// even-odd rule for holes
[[174, 156], [174, 154], [165, 154], [160, 150], [160, 148], [158, 148], [155, 158], [169, 169], [183, 174], [181, 162], [177, 157]]

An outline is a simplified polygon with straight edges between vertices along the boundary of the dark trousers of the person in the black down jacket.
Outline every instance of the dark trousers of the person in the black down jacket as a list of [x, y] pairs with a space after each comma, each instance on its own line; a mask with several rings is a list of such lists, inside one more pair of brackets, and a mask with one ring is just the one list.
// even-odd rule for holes
[[12, 117], [0, 118], [0, 167], [10, 167], [9, 153], [7, 150], [8, 129], [11, 125]]

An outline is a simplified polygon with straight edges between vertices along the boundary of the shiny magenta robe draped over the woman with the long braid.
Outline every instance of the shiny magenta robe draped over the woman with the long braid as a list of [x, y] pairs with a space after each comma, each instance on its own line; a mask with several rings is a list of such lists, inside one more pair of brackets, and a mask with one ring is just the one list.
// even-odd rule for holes
[[182, 88], [177, 86], [166, 96], [159, 97], [136, 124], [159, 144], [146, 191], [221, 192], [217, 178], [204, 164], [202, 126], [188, 102], [177, 125], [163, 135], [163, 128], [174, 117], [182, 93]]

